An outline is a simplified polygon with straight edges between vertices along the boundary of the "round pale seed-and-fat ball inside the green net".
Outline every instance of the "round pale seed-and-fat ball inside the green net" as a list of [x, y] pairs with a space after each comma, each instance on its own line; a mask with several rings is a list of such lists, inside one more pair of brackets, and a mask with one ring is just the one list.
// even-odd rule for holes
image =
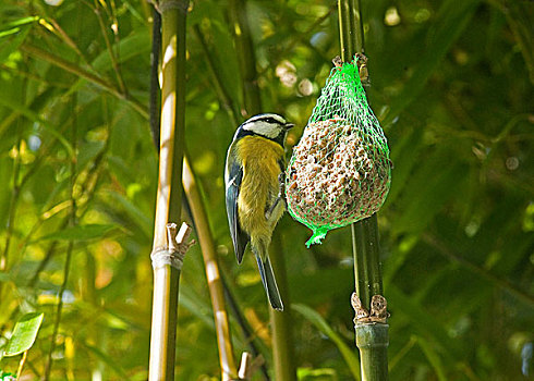
[[389, 189], [387, 150], [339, 118], [310, 123], [288, 167], [286, 195], [295, 217], [345, 225], [369, 217]]

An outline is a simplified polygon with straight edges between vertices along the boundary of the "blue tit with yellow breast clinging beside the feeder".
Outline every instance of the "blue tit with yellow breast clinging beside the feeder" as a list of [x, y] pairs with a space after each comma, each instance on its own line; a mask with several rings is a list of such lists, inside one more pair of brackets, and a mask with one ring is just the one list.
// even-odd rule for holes
[[283, 310], [268, 247], [272, 231], [286, 210], [284, 140], [293, 126], [272, 113], [252, 116], [239, 126], [228, 149], [224, 171], [228, 222], [238, 262], [246, 245], [256, 257], [270, 305]]

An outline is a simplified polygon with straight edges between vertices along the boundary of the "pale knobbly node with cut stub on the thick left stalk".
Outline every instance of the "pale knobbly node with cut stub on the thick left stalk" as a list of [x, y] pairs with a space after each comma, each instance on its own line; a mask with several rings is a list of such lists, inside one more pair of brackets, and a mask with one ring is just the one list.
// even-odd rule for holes
[[195, 241], [186, 242], [192, 232], [190, 225], [183, 222], [178, 234], [177, 226], [173, 222], [167, 224], [167, 247], [156, 248], [150, 254], [154, 270], [166, 266], [182, 270], [185, 254]]

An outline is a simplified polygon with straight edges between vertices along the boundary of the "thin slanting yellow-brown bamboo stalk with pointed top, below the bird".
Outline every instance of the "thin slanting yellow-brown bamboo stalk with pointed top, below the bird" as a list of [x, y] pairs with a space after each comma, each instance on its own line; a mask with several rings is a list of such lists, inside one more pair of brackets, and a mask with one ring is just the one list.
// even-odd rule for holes
[[193, 220], [195, 221], [196, 235], [201, 243], [209, 295], [211, 297], [211, 305], [214, 306], [221, 378], [222, 381], [229, 381], [238, 378], [238, 368], [233, 355], [230, 323], [224, 302], [224, 290], [219, 272], [219, 263], [208, 218], [204, 209], [195, 175], [187, 158], [184, 160], [182, 181], [184, 193], [190, 201]]

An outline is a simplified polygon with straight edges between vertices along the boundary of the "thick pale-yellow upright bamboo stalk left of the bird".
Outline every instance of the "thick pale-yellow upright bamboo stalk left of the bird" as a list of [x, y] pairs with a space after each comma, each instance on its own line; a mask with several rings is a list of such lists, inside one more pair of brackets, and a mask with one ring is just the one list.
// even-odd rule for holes
[[[181, 179], [185, 122], [185, 21], [187, 0], [161, 0], [162, 91], [159, 181], [153, 254], [169, 253], [167, 224], [181, 212]], [[174, 185], [174, 186], [172, 186]], [[154, 267], [150, 381], [174, 379], [180, 269], [170, 263]]]

